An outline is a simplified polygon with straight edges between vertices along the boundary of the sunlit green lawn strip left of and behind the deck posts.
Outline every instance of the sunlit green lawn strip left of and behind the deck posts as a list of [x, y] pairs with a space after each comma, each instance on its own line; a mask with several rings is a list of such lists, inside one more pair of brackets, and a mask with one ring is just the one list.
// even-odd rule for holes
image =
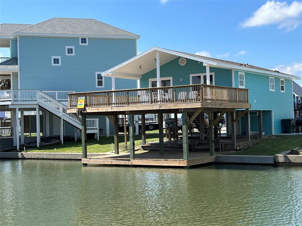
[[[146, 141], [159, 141], [159, 134], [147, 134]], [[110, 152], [111, 151], [111, 143], [113, 143], [113, 150], [114, 150], [114, 137], [100, 137], [99, 141], [95, 139], [91, 139], [87, 141], [87, 152]], [[124, 150], [124, 135], [119, 136], [119, 143], [120, 143], [120, 151]], [[142, 136], [137, 135], [135, 136], [135, 148], [139, 148], [142, 143]], [[26, 149], [26, 152], [54, 152], [56, 148], [56, 152], [82, 152], [82, 142], [81, 140], [78, 141], [66, 141], [63, 145], [55, 144], [45, 147], [40, 147], [36, 149]], [[128, 136], [128, 149], [129, 149], [129, 136]]]

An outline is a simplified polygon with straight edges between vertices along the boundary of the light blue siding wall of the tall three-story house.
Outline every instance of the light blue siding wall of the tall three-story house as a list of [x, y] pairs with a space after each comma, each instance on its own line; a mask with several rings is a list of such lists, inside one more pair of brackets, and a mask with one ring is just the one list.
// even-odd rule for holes
[[[110, 77], [104, 78], [104, 88], [95, 87], [95, 72], [135, 56], [136, 40], [89, 38], [88, 43], [80, 46], [79, 38], [19, 36], [20, 88], [110, 90]], [[65, 46], [75, 46], [75, 55], [66, 56]], [[51, 56], [61, 56], [61, 66], [52, 66]], [[116, 79], [116, 89], [136, 87], [136, 80]]]

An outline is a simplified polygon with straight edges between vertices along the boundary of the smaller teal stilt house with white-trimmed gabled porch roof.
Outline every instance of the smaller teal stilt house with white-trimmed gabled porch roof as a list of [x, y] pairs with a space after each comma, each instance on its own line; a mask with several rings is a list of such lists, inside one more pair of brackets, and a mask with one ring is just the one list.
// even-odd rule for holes
[[[159, 68], [156, 68], [156, 53], [160, 61]], [[159, 70], [157, 71], [157, 69]], [[250, 113], [251, 132], [258, 132], [258, 114], [259, 111], [262, 113], [262, 128], [265, 135], [282, 133], [281, 119], [293, 117], [291, 101], [293, 80], [300, 79], [297, 76], [251, 64], [214, 59], [159, 47], [153, 47], [102, 73], [104, 77], [113, 75], [140, 79], [140, 88], [209, 84], [249, 89], [249, 96], [238, 97], [239, 94], [237, 93], [237, 97], [248, 98], [251, 104], [248, 111]], [[181, 89], [181, 87], [177, 89]], [[177, 99], [180, 98], [178, 96], [180, 94], [175, 95], [172, 97], [169, 90], [166, 94], [168, 99], [176, 99], [175, 101], [179, 102]], [[187, 91], [182, 95], [185, 98], [190, 98], [190, 93]], [[219, 95], [219, 93], [215, 95]], [[236, 96], [236, 93], [232, 95]], [[236, 116], [240, 115], [242, 111], [242, 109], [237, 108]], [[227, 112], [226, 119], [229, 123], [228, 128], [230, 128], [230, 112]], [[230, 131], [228, 133], [230, 134]], [[236, 122], [236, 134], [246, 134], [245, 115]]]

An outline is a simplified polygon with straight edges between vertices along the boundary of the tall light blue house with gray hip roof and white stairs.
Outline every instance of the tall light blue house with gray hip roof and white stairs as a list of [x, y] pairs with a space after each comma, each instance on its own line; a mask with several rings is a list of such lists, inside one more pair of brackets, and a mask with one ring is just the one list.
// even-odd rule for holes
[[[81, 128], [76, 116], [66, 114], [67, 93], [110, 90], [111, 78], [102, 77], [101, 73], [137, 55], [140, 38], [98, 20], [74, 18], [52, 18], [39, 24], [1, 24], [0, 35], [0, 47], [10, 48], [11, 53], [0, 63], [1, 78], [11, 80], [11, 91], [0, 91], [1, 111], [13, 111], [16, 128], [16, 111], [21, 112], [22, 127], [28, 123], [24, 122], [23, 111], [37, 110], [40, 117], [39, 113], [30, 117], [30, 130], [61, 137], [79, 135], [77, 129]], [[115, 89], [136, 87], [137, 81], [115, 81]], [[104, 134], [113, 133], [105, 116], [91, 118], [98, 118], [98, 127]]]

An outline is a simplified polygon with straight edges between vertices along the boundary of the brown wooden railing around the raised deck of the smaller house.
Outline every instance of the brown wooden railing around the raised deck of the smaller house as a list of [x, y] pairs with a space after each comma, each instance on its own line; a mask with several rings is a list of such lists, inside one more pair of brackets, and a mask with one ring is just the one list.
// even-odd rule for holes
[[69, 108], [77, 107], [78, 96], [86, 96], [85, 107], [187, 102], [249, 103], [248, 89], [204, 84], [69, 93]]

